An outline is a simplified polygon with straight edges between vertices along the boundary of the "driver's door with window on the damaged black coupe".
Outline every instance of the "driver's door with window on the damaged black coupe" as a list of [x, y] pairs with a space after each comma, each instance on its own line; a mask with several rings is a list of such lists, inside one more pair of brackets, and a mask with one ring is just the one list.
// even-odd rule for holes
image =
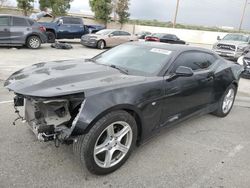
[[[171, 123], [207, 107], [213, 101], [214, 62], [208, 53], [190, 51], [180, 54], [173, 62], [167, 77], [175, 74], [178, 67], [193, 70], [193, 76], [176, 77], [165, 82], [165, 99], [162, 124]], [[213, 57], [213, 56], [212, 56]], [[213, 60], [215, 61], [215, 57]]]

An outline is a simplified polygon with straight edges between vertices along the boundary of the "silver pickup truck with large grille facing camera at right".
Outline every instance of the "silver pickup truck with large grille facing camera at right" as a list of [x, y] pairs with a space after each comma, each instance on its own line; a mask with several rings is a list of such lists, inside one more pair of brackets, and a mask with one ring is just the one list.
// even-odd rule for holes
[[237, 60], [242, 56], [245, 48], [249, 47], [250, 35], [227, 34], [222, 39], [218, 36], [218, 42], [213, 45], [213, 51], [218, 55]]

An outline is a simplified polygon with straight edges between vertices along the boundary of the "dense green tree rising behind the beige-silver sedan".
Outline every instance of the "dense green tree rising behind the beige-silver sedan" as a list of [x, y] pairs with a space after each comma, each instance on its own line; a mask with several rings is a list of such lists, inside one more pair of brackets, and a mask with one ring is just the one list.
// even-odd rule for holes
[[110, 14], [113, 9], [111, 0], [89, 0], [89, 4], [95, 14], [95, 18], [107, 26], [108, 21], [111, 19]]

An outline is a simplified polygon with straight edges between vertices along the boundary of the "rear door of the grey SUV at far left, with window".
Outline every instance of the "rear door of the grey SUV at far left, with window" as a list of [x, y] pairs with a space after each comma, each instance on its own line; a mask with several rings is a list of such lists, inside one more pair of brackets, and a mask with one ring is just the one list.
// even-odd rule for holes
[[32, 27], [25, 18], [11, 17], [10, 38], [12, 44], [25, 44]]

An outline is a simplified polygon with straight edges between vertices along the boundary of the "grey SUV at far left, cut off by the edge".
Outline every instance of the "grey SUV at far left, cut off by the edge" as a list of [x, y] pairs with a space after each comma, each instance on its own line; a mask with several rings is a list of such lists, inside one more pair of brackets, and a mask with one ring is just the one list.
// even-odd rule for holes
[[46, 29], [27, 17], [0, 14], [0, 46], [40, 48], [47, 42]]

